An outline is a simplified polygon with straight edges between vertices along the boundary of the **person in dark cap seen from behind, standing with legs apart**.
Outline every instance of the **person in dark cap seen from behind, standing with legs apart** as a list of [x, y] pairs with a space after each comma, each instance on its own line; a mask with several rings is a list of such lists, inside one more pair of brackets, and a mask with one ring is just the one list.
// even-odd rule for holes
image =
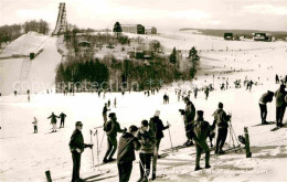
[[211, 132], [211, 126], [208, 121], [203, 119], [203, 111], [198, 110], [198, 118], [193, 124], [195, 149], [196, 149], [196, 160], [195, 160], [195, 171], [200, 170], [200, 157], [202, 151], [205, 152], [205, 168], [210, 168], [210, 148], [206, 143], [206, 138]]

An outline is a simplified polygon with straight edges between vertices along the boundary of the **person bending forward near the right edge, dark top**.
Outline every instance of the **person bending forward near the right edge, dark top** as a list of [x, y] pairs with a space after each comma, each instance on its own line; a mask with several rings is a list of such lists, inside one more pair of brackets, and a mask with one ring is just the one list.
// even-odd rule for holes
[[263, 94], [262, 97], [259, 98], [262, 125], [268, 124], [266, 121], [266, 118], [267, 118], [267, 103], [272, 103], [273, 97], [274, 97], [274, 93], [268, 90], [267, 93]]

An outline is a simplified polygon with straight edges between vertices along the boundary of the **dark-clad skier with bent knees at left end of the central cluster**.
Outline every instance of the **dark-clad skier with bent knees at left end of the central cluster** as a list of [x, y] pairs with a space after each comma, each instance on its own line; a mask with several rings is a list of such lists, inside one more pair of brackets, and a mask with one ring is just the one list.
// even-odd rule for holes
[[104, 130], [106, 131], [107, 143], [108, 143], [108, 148], [107, 148], [106, 154], [103, 160], [104, 163], [114, 161], [113, 156], [115, 154], [115, 152], [117, 150], [117, 146], [118, 146], [117, 132], [127, 131], [127, 128], [120, 129], [120, 125], [117, 121], [117, 117], [116, 117], [115, 113], [110, 113], [108, 115], [108, 117], [110, 120], [104, 125]]

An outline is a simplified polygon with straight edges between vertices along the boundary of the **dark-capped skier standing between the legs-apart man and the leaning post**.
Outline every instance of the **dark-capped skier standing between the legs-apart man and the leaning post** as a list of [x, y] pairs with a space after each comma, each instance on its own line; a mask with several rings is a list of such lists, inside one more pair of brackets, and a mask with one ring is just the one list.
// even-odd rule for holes
[[223, 104], [219, 103], [219, 108], [214, 111], [214, 125], [217, 126], [217, 139], [215, 144], [215, 154], [224, 154], [225, 152], [222, 150], [224, 142], [227, 137], [228, 129], [228, 118], [226, 113], [223, 110]]

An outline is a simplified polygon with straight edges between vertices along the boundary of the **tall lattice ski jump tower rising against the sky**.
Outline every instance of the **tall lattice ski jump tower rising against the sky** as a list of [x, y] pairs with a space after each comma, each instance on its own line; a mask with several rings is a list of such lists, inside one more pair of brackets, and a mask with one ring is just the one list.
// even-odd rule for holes
[[66, 21], [66, 8], [65, 3], [60, 3], [59, 7], [59, 14], [56, 20], [56, 26], [53, 31], [52, 35], [60, 35], [63, 34], [67, 30], [67, 21]]

